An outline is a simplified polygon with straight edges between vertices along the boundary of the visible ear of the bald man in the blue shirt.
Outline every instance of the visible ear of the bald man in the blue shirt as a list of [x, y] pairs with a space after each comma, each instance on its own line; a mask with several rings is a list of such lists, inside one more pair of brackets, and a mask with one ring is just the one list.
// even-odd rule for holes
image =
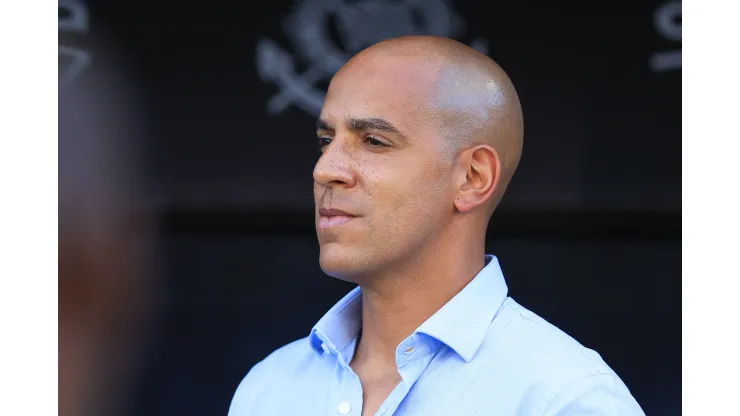
[[460, 212], [469, 212], [491, 201], [501, 177], [501, 159], [498, 152], [488, 145], [477, 145], [460, 155], [465, 178], [455, 198]]

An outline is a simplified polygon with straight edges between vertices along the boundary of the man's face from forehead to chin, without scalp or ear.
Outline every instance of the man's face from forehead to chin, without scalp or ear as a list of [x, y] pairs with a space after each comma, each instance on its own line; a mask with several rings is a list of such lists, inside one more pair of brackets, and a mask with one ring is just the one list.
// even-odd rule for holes
[[334, 78], [314, 169], [321, 268], [357, 281], [422, 254], [454, 212], [452, 155], [428, 100], [436, 64], [359, 59]]

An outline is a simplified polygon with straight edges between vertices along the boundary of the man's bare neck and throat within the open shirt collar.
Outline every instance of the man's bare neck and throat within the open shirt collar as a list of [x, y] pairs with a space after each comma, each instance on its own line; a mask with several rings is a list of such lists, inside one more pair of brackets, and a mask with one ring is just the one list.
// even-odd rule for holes
[[360, 285], [362, 330], [352, 361], [395, 367], [401, 341], [470, 283], [485, 265], [484, 254], [481, 247], [456, 258], [427, 255], [430, 261]]

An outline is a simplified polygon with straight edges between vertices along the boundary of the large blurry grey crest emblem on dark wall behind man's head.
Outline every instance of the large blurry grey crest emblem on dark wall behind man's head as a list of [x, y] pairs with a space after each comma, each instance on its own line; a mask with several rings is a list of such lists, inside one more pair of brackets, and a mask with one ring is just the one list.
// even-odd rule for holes
[[[324, 103], [323, 88], [356, 52], [384, 39], [404, 35], [459, 36], [462, 20], [447, 0], [302, 0], [285, 19], [284, 30], [299, 53], [294, 55], [269, 38], [257, 43], [257, 71], [280, 91], [270, 98], [270, 114], [295, 104], [318, 116]], [[332, 39], [331, 31], [335, 32]], [[471, 46], [487, 53], [485, 39]]]

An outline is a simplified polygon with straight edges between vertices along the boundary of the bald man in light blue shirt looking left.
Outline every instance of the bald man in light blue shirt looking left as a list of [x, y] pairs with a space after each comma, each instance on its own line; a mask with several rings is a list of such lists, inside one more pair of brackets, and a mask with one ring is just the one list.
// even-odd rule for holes
[[485, 253], [522, 151], [498, 65], [449, 39], [381, 42], [335, 75], [317, 136], [319, 262], [358, 287], [252, 368], [231, 416], [643, 414]]

